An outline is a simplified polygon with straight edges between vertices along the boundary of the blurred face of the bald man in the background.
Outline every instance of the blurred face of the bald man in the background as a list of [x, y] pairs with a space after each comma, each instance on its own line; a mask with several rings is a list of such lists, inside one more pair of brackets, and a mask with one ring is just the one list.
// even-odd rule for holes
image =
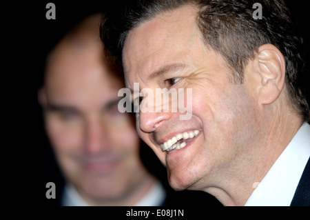
[[101, 42], [94, 40], [63, 41], [52, 55], [45, 80], [46, 130], [76, 189], [99, 201], [117, 201], [145, 170], [134, 123], [118, 112], [123, 83], [103, 59]]

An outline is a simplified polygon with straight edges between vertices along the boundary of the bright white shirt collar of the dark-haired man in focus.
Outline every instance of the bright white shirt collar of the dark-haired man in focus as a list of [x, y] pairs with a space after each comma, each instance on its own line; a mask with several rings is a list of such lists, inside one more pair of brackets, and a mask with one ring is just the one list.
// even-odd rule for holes
[[245, 206], [289, 206], [309, 157], [310, 126], [304, 123]]

